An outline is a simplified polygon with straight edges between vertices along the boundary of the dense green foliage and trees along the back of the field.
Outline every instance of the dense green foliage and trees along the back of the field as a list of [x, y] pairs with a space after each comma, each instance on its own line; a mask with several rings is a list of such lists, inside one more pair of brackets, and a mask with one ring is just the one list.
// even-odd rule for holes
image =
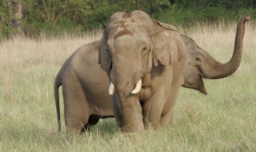
[[162, 22], [191, 26], [255, 14], [256, 0], [1, 0], [0, 38], [83, 34], [101, 27], [120, 10], [144, 10]]

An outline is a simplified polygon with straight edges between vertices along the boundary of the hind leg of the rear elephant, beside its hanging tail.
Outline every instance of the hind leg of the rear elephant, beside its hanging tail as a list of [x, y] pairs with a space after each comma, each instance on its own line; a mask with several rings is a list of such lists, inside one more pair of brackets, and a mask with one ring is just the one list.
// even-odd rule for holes
[[62, 83], [64, 117], [67, 130], [80, 134], [89, 120], [90, 109], [82, 86], [75, 80], [69, 78]]

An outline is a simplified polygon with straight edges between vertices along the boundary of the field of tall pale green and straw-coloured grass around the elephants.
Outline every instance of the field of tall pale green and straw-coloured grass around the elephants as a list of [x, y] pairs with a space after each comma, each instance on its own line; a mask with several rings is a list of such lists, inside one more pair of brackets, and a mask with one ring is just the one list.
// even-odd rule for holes
[[[235, 23], [183, 31], [218, 61], [230, 59]], [[241, 66], [228, 78], [205, 80], [208, 95], [181, 88], [171, 126], [130, 137], [118, 130], [114, 118], [78, 137], [66, 137], [63, 127], [57, 132], [54, 78], [74, 50], [101, 34], [2, 41], [0, 151], [256, 151], [255, 35], [250, 21]]]

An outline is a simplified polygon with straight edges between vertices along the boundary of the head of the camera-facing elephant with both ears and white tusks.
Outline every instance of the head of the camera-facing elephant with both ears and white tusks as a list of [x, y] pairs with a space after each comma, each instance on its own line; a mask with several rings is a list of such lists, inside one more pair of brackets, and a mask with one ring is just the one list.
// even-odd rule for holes
[[[142, 87], [141, 78], [150, 73], [153, 63], [154, 66], [158, 63], [167, 66], [182, 58], [181, 52], [175, 51], [181, 48], [168, 39], [178, 33], [174, 35], [168, 30], [175, 31], [176, 28], [150, 18], [140, 10], [130, 14], [118, 12], [110, 17], [99, 46], [99, 63], [112, 81], [110, 94], [113, 94], [114, 86], [120, 86], [117, 84], [122, 82], [126, 83], [122, 86], [130, 86], [130, 93], [136, 94]], [[119, 77], [121, 75], [126, 77]], [[130, 80], [124, 82], [124, 79]]]

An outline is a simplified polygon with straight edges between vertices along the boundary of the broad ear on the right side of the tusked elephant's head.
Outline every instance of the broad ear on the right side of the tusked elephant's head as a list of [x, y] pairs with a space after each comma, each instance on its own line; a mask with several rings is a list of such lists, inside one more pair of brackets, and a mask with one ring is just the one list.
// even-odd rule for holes
[[157, 23], [158, 33], [152, 37], [154, 66], [158, 66], [158, 62], [164, 66], [169, 66], [181, 60], [184, 44], [175, 26], [162, 22]]

